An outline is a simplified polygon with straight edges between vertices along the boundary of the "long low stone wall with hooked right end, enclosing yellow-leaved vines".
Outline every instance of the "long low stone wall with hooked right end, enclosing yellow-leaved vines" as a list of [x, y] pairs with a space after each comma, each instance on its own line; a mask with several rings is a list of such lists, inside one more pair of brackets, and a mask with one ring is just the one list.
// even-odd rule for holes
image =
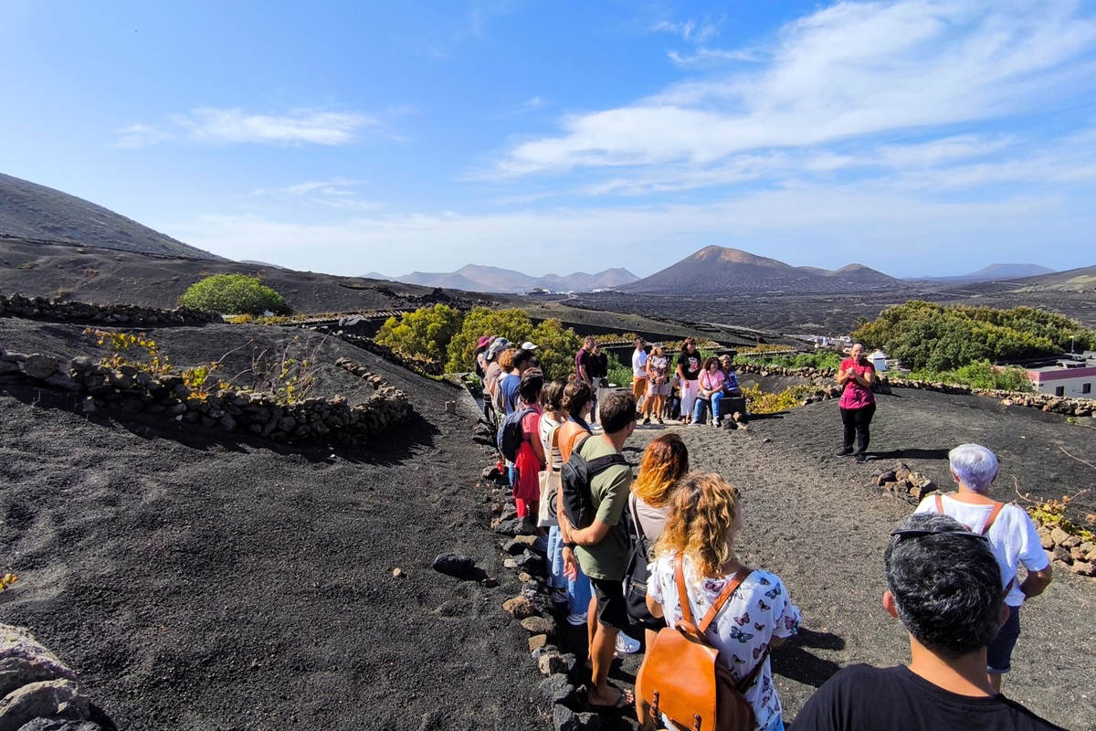
[[0, 347], [0, 375], [82, 396], [85, 412], [99, 409], [163, 414], [228, 433], [274, 442], [324, 441], [361, 444], [407, 420], [407, 395], [349, 358], [335, 362], [376, 389], [365, 402], [350, 406], [342, 397], [305, 399], [287, 404], [269, 393], [217, 390], [198, 393], [180, 376], [159, 376], [122, 366], [110, 368], [80, 356], [69, 362], [48, 355], [9, 353]]

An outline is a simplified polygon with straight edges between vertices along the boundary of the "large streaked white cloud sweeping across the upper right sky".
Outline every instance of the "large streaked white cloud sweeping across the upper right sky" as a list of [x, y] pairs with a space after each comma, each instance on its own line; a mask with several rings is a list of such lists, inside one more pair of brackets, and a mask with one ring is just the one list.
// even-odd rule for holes
[[1096, 73], [1078, 58], [1094, 47], [1096, 23], [1071, 1], [842, 2], [786, 26], [770, 62], [573, 114], [562, 135], [515, 145], [487, 175], [695, 170], [743, 151], [1000, 117], [1089, 89]]

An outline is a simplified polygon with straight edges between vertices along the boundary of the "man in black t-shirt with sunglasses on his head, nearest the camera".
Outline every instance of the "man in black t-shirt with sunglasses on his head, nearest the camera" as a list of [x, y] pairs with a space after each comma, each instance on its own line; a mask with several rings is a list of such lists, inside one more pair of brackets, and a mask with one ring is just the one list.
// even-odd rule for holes
[[910, 664], [846, 667], [790, 731], [1062, 731], [990, 685], [985, 648], [1008, 608], [985, 536], [916, 513], [891, 534], [883, 566], [883, 606], [910, 632]]

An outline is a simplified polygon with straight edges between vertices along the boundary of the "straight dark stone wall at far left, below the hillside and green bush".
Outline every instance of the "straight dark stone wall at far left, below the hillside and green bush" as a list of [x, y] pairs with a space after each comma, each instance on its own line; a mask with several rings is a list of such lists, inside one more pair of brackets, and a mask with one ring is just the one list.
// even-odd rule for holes
[[216, 312], [179, 307], [161, 310], [136, 305], [94, 305], [72, 302], [45, 297], [24, 297], [20, 294], [0, 294], [0, 317], [24, 317], [59, 322], [88, 322], [95, 324], [117, 324], [140, 328], [162, 328], [164, 325], [201, 325], [220, 322]]

